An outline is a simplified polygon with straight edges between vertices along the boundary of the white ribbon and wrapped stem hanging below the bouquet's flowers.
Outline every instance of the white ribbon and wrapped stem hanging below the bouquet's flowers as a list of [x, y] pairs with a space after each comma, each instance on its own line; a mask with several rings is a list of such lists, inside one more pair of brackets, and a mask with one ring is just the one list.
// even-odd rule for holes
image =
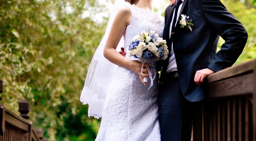
[[[139, 59], [139, 62], [142, 63], [142, 66], [141, 66], [141, 73], [143, 73], [143, 67], [144, 65], [146, 65], [146, 68], [148, 70], [148, 75], [149, 75], [149, 79], [150, 79], [150, 85], [149, 85], [149, 88], [150, 89], [153, 84], [154, 84], [154, 79], [156, 78], [156, 69], [154, 68], [154, 63], [152, 63], [152, 61], [148, 60], [148, 59]], [[143, 81], [144, 82], [148, 82], [148, 77], [144, 77], [143, 78]]]

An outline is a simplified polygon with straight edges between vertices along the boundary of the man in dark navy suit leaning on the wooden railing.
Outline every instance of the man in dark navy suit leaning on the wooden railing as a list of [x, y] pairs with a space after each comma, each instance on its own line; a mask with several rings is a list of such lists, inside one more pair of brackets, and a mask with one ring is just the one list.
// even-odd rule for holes
[[[181, 25], [182, 14], [189, 18]], [[215, 54], [219, 36], [225, 43]], [[162, 62], [157, 98], [162, 141], [191, 140], [192, 120], [207, 95], [205, 78], [232, 66], [247, 36], [220, 0], [177, 0], [167, 7], [163, 38], [170, 53]]]

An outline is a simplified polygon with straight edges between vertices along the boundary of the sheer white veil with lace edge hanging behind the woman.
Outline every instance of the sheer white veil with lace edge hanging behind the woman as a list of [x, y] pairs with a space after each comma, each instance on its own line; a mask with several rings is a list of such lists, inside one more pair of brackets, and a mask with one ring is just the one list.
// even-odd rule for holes
[[[108, 61], [103, 56], [103, 50], [108, 38], [112, 23], [116, 17], [117, 11], [121, 6], [128, 6], [129, 3], [124, 0], [115, 0], [115, 3], [111, 9], [111, 15], [108, 20], [107, 29], [102, 41], [100, 42], [93, 58], [91, 60], [87, 76], [84, 83], [84, 88], [81, 92], [80, 101], [83, 104], [88, 104], [88, 116], [94, 118], [102, 117], [103, 107], [105, 103], [106, 93], [108, 91], [109, 84], [111, 83], [113, 76], [116, 72], [117, 66]], [[121, 50], [124, 46], [124, 39], [121, 38], [117, 51]]]

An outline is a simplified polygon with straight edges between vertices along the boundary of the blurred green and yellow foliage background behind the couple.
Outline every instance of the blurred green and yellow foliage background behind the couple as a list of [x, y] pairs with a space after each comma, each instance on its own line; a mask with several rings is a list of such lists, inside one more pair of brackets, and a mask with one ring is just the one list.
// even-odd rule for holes
[[[256, 0], [254, 0], [256, 1]], [[222, 0], [249, 38], [236, 64], [256, 58], [253, 0]], [[102, 39], [113, 0], [1, 0], [0, 95], [18, 114], [31, 104], [30, 120], [51, 141], [94, 141], [100, 120], [79, 101], [90, 60]], [[169, 1], [155, 0], [162, 14]], [[224, 43], [220, 39], [219, 47]]]

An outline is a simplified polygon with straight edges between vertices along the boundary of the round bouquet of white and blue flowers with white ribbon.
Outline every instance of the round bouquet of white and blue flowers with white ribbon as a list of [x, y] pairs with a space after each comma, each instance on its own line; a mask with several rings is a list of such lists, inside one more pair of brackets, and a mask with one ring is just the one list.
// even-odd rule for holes
[[[168, 54], [169, 51], [167, 49], [166, 40], [163, 40], [163, 38], [159, 37], [154, 31], [150, 31], [150, 33], [141, 32], [140, 35], [135, 35], [127, 51], [129, 57], [133, 56], [134, 58], [138, 58], [143, 65], [146, 65], [149, 78], [151, 79], [149, 88], [153, 86], [153, 80], [156, 76], [154, 63], [152, 62], [154, 60], [165, 60]], [[142, 70], [143, 67], [141, 68], [141, 73], [143, 73]], [[143, 81], [148, 82], [148, 78], [143, 78]]]

